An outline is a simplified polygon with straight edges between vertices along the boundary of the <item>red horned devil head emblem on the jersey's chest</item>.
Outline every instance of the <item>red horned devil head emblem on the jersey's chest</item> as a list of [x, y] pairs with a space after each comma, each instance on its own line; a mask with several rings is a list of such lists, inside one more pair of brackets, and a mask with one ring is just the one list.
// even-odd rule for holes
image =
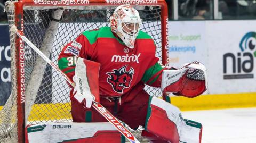
[[123, 66], [120, 69], [114, 69], [113, 72], [107, 72], [109, 75], [107, 82], [112, 86], [113, 90], [118, 94], [122, 94], [125, 88], [130, 87], [132, 77], [134, 74], [134, 69], [131, 67], [127, 71], [127, 65]]

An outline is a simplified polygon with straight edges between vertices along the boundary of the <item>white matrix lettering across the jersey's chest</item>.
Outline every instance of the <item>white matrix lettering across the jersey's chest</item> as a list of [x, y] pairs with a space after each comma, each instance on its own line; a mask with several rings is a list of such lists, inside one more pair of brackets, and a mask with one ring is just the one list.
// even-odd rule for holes
[[111, 62], [136, 62], [136, 63], [139, 63], [139, 57], [140, 57], [140, 53], [138, 55], [132, 54], [131, 56], [129, 56], [128, 54], [126, 54], [126, 56], [114, 55], [111, 58]]

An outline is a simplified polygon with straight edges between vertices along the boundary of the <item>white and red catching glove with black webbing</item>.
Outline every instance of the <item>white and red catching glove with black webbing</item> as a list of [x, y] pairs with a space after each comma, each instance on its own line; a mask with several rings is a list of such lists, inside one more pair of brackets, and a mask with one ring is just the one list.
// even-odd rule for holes
[[[189, 89], [190, 88], [189, 86], [191, 86], [191, 89], [192, 88], [195, 89], [195, 87], [193, 87], [193, 85], [195, 84], [193, 84], [193, 82], [188, 82], [188, 81], [194, 81], [194, 83], [196, 81], [201, 81], [199, 83], [199, 86], [201, 86], [200, 88], [204, 88], [204, 91], [205, 91], [207, 89], [207, 74], [206, 74], [205, 66], [199, 62], [193, 62], [190, 64], [185, 64], [185, 66], [183, 66], [181, 69], [164, 70], [162, 74], [161, 88], [163, 92], [174, 92], [174, 93], [183, 91], [185, 87], [186, 89]], [[189, 85], [189, 83], [191, 85]], [[167, 87], [171, 90], [168, 90]], [[193, 94], [197, 95], [196, 93], [193, 93]]]

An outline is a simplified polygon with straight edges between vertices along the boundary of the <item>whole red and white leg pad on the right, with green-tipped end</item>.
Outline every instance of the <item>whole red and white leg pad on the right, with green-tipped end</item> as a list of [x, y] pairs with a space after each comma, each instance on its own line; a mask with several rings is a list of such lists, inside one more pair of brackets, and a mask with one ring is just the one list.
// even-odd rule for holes
[[202, 125], [185, 121], [179, 108], [162, 99], [150, 97], [145, 124], [145, 129], [150, 133], [144, 132], [142, 136], [151, 142], [201, 142]]

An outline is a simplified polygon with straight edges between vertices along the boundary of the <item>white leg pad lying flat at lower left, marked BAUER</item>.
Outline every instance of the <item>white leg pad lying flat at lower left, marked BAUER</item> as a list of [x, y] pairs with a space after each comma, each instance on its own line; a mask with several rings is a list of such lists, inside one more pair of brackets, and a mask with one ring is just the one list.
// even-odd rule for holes
[[[26, 128], [28, 143], [120, 142], [121, 133], [110, 123], [42, 123]], [[102, 137], [101, 139], [99, 137]], [[98, 139], [99, 138], [99, 139]]]

